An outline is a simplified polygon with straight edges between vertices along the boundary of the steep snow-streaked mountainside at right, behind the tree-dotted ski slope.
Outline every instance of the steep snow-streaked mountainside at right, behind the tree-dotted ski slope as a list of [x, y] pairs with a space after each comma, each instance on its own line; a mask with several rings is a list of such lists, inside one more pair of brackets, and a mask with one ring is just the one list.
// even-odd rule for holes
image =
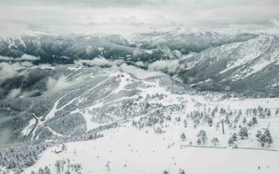
[[186, 60], [180, 77], [202, 90], [258, 90], [278, 93], [279, 38], [259, 35], [207, 49]]

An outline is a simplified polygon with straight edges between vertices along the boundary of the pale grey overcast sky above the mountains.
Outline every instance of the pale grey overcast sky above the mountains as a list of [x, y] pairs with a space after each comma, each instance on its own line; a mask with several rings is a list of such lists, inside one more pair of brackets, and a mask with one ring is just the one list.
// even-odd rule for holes
[[278, 0], [0, 0], [0, 34], [137, 32], [151, 27], [278, 26]]

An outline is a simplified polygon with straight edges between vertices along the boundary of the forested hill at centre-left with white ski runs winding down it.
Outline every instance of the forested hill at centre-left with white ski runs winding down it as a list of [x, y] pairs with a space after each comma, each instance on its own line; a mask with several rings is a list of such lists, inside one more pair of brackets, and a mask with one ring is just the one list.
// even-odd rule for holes
[[9, 130], [7, 142], [82, 134], [92, 129], [91, 121], [96, 127], [140, 116], [165, 102], [172, 105], [176, 94], [191, 91], [166, 75], [138, 79], [124, 72], [75, 66], [31, 69], [15, 79], [21, 86], [7, 88], [9, 93], [18, 90], [17, 98], [0, 100], [1, 116], [10, 116], [1, 122], [1, 129]]

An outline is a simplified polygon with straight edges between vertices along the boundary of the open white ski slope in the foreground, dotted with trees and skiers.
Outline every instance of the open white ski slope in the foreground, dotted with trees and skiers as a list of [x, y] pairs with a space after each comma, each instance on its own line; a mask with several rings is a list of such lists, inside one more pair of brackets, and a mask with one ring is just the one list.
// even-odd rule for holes
[[[206, 122], [201, 122], [194, 128], [192, 120], [186, 117], [186, 113], [189, 113], [191, 108], [188, 110], [186, 107], [186, 111], [183, 112], [163, 113], [165, 116], [171, 116], [171, 120], [158, 122], [151, 127], [139, 129], [139, 127], [133, 126], [133, 120], [137, 121], [139, 118], [123, 122], [119, 127], [102, 132], [103, 138], [67, 143], [66, 150], [58, 155], [54, 153], [55, 150], [59, 150], [58, 146], [49, 148], [43, 152], [39, 161], [34, 166], [27, 168], [24, 173], [38, 171], [39, 168], [45, 166], [50, 168], [52, 173], [56, 173], [57, 170], [60, 170], [60, 173], [66, 173], [66, 171], [70, 171], [70, 173], [119, 174], [163, 173], [163, 171], [179, 173], [180, 169], [186, 173], [278, 173], [279, 116], [276, 117], [276, 109], [273, 109], [277, 106], [278, 100], [234, 99], [218, 102], [219, 109], [222, 106], [226, 111], [239, 112], [239, 109], [243, 110], [241, 121], [243, 118], [252, 119], [250, 113], [246, 116], [245, 111], [256, 104], [271, 108], [269, 118], [258, 119], [258, 124], [248, 129], [248, 138], [243, 140], [238, 138], [235, 143], [238, 146], [237, 149], [233, 148], [235, 144], [228, 145], [227, 141], [232, 133], [238, 134], [239, 126], [229, 128], [225, 124], [225, 134], [223, 134], [221, 127], [216, 129], [216, 126], [209, 126]], [[213, 107], [217, 106], [217, 103], [212, 104]], [[203, 111], [204, 108], [207, 110], [209, 107], [211, 104], [192, 109]], [[234, 116], [236, 113], [233, 113], [232, 120]], [[179, 117], [180, 121], [177, 120]], [[220, 118], [222, 116], [216, 112], [213, 125], [216, 125]], [[188, 122], [187, 127], [185, 127], [184, 119]], [[243, 124], [241, 121], [237, 125], [246, 127], [247, 123]], [[156, 132], [158, 127], [161, 127], [163, 132]], [[255, 136], [257, 130], [266, 127], [269, 127], [274, 141], [270, 148], [267, 146], [262, 148]], [[205, 144], [198, 145], [197, 134], [201, 129], [206, 131], [208, 140]], [[182, 133], [185, 133], [186, 139], [181, 139]], [[211, 143], [213, 137], [218, 139], [216, 145]], [[270, 150], [277, 150], [277, 152]], [[63, 169], [61, 166], [57, 167], [56, 161], [61, 162]], [[76, 169], [70, 167], [69, 164], [80, 164], [81, 168]]]

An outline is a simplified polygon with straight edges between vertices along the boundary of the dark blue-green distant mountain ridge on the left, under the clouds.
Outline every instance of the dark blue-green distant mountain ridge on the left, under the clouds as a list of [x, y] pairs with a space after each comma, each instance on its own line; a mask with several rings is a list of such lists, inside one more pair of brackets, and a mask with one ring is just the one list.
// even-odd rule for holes
[[78, 58], [126, 58], [133, 52], [143, 52], [119, 35], [96, 37], [90, 35], [38, 35], [0, 40], [0, 55], [20, 57], [39, 56], [38, 63], [73, 63]]

